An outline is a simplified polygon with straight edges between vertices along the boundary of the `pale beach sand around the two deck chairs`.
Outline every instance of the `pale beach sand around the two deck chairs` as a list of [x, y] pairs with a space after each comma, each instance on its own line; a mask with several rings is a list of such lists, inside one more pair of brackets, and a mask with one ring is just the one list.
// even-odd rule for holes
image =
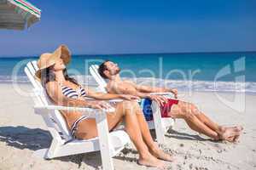
[[[20, 84], [31, 93], [32, 86]], [[234, 94], [220, 94], [232, 99]], [[195, 103], [212, 120], [222, 125], [239, 124], [245, 129], [237, 144], [213, 142], [193, 132], [182, 120], [166, 133], [164, 150], [176, 161], [168, 169], [256, 169], [256, 95], [246, 95], [246, 110], [235, 111], [214, 93], [193, 92], [184, 100]], [[234, 104], [234, 108], [237, 104]], [[44, 160], [33, 156], [35, 150], [49, 147], [51, 136], [41, 116], [32, 110], [29, 96], [20, 95], [11, 84], [0, 84], [0, 169], [101, 169], [99, 152]], [[231, 105], [232, 107], [232, 105]], [[152, 169], [137, 164], [137, 150], [129, 145], [113, 158], [116, 169]]]

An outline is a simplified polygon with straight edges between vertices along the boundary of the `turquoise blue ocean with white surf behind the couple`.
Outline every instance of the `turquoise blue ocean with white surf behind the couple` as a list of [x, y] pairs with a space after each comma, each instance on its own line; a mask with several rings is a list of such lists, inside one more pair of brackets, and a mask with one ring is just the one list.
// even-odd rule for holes
[[[28, 82], [27, 61], [38, 57], [0, 58], [0, 82]], [[89, 65], [112, 60], [120, 75], [141, 84], [192, 91], [256, 94], [256, 52], [194, 54], [73, 55], [68, 73], [84, 84], [96, 85]]]

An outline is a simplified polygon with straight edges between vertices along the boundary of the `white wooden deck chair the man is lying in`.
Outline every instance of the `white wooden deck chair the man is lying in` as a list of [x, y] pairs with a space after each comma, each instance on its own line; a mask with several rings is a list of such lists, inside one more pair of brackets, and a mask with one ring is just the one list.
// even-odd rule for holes
[[[92, 77], [95, 78], [98, 83], [97, 90], [107, 93], [106, 87], [107, 82], [101, 77], [98, 72], [99, 65], [90, 65], [89, 71]], [[161, 94], [172, 96], [171, 93], [153, 93], [153, 94]], [[174, 120], [171, 117], [161, 117], [160, 115], [160, 107], [156, 104], [156, 102], [152, 102], [152, 110], [153, 110], [153, 121], [148, 121], [148, 127], [150, 129], [155, 129], [156, 139], [159, 144], [165, 144], [165, 133], [170, 127], [174, 126]]]

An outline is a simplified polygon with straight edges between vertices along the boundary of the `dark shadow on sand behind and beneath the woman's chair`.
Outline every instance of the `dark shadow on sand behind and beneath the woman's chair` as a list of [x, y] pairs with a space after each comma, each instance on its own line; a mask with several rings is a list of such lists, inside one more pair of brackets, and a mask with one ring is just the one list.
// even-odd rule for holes
[[[23, 126], [0, 127], [0, 142], [5, 142], [7, 145], [20, 150], [40, 150], [49, 148], [51, 140], [52, 137], [50, 133], [41, 128], [28, 128]], [[58, 157], [54, 158], [54, 160], [72, 161], [78, 164], [78, 167], [80, 167], [81, 163], [84, 161], [85, 164], [98, 168], [102, 166], [102, 161], [99, 157], [101, 157], [100, 152], [92, 152], [88, 154]]]

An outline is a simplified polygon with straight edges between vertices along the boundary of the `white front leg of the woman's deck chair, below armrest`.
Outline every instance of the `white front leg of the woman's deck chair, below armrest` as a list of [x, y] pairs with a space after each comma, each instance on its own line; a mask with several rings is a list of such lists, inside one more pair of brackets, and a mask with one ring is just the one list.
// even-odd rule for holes
[[104, 170], [113, 170], [113, 159], [111, 150], [113, 149], [108, 136], [108, 121], [105, 113], [99, 112], [96, 116], [96, 126], [102, 156], [102, 167]]

